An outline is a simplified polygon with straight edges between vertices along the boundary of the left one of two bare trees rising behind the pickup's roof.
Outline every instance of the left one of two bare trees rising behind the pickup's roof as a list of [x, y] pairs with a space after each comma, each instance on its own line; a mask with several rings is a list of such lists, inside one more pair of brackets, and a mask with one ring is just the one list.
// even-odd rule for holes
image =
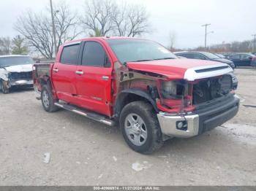
[[105, 36], [113, 31], [113, 12], [115, 12], [115, 3], [111, 0], [89, 0], [86, 1], [84, 16], [81, 23], [93, 34], [99, 32], [99, 36]]

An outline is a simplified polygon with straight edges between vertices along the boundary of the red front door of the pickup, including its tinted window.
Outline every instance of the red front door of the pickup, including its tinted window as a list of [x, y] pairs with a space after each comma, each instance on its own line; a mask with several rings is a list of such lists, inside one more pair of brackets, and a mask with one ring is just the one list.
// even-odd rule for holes
[[104, 44], [83, 43], [80, 65], [76, 70], [76, 88], [80, 106], [110, 116], [112, 64]]

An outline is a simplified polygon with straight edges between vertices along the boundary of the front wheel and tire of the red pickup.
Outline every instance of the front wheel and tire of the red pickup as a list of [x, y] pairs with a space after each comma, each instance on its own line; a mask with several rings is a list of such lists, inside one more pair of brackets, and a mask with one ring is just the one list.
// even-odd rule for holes
[[149, 154], [162, 147], [162, 132], [151, 104], [144, 101], [127, 104], [119, 123], [124, 140], [135, 152]]

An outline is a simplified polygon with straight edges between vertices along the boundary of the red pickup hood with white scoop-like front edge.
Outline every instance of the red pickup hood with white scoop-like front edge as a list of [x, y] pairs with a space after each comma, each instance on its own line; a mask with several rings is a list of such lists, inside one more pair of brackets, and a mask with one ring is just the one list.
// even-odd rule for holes
[[226, 63], [195, 59], [170, 59], [159, 61], [128, 62], [129, 69], [161, 74], [169, 79], [203, 79], [233, 72]]

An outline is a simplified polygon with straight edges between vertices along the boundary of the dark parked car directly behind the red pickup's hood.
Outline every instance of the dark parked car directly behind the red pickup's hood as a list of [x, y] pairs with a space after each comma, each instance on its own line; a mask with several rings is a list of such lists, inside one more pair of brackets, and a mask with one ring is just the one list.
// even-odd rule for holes
[[211, 52], [191, 52], [191, 51], [184, 51], [184, 52], [174, 52], [177, 56], [183, 56], [190, 59], [199, 59], [199, 60], [208, 60], [208, 61], [217, 61], [220, 63], [227, 63], [233, 69], [235, 65], [233, 61], [227, 60], [225, 58], [220, 58], [218, 55], [215, 55]]

